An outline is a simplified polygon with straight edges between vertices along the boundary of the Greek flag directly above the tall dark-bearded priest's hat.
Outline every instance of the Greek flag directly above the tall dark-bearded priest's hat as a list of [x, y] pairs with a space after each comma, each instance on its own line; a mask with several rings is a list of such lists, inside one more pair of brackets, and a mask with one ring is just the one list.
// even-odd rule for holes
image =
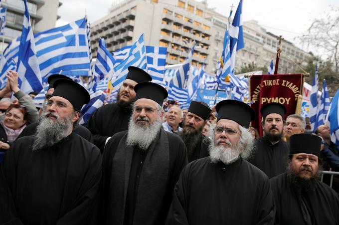
[[136, 66], [147, 71], [147, 57], [144, 34], [142, 34], [139, 39], [132, 45], [128, 57], [116, 67], [114, 67], [115, 73], [111, 79], [114, 89], [118, 90], [122, 85], [127, 76], [129, 66]]

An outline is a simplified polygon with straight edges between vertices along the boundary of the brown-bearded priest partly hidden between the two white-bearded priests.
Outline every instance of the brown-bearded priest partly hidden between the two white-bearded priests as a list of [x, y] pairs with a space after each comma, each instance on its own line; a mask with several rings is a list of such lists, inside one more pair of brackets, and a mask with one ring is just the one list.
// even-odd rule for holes
[[189, 105], [182, 131], [178, 133], [186, 145], [188, 162], [209, 156], [210, 140], [201, 132], [210, 112], [211, 109], [204, 102], [192, 101]]

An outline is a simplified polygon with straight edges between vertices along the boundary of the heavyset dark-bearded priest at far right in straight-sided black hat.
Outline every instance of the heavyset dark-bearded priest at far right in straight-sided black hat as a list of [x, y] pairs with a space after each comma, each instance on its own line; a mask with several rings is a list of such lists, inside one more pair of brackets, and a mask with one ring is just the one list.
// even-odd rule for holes
[[294, 134], [287, 172], [270, 180], [279, 225], [338, 225], [339, 197], [319, 181], [321, 138]]

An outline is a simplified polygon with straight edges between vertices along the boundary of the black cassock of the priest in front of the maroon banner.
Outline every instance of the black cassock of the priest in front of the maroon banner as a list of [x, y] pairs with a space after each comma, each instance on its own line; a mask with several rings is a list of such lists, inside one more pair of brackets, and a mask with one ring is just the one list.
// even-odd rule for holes
[[255, 142], [249, 162], [272, 178], [286, 172], [288, 154], [289, 146], [282, 139], [272, 144], [266, 137], [261, 137]]

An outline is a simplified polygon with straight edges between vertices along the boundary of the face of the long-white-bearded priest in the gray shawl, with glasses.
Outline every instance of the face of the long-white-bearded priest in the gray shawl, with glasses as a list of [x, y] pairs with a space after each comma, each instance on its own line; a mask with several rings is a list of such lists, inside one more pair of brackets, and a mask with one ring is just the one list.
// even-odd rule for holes
[[135, 102], [133, 109], [133, 120], [140, 127], [147, 127], [151, 123], [162, 118], [163, 112], [159, 115], [157, 103], [151, 99], [141, 98]]

